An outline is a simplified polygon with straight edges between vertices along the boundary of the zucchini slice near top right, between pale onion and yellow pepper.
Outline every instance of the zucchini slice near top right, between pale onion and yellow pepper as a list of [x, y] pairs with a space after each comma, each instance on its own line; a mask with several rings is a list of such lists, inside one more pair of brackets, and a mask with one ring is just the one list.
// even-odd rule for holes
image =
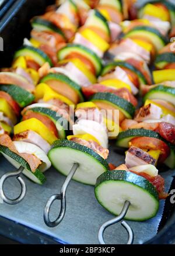
[[124, 37], [130, 36], [144, 36], [148, 38], [153, 46], [155, 46], [157, 52], [168, 43], [166, 37], [164, 37], [159, 30], [149, 26], [136, 26], [126, 33]]

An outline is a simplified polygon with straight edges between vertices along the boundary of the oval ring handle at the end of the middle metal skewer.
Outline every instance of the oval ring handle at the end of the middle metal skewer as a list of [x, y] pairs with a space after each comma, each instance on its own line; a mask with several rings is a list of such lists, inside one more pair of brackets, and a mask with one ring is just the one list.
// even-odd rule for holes
[[[61, 209], [57, 219], [54, 221], [51, 221], [49, 213], [50, 213], [51, 206], [55, 200], [61, 200]], [[65, 196], [62, 196], [62, 194], [53, 194], [53, 196], [51, 196], [50, 199], [48, 199], [46, 206], [44, 207], [44, 222], [48, 227], [56, 227], [58, 224], [60, 224], [60, 222], [64, 218], [65, 211], [66, 211]]]

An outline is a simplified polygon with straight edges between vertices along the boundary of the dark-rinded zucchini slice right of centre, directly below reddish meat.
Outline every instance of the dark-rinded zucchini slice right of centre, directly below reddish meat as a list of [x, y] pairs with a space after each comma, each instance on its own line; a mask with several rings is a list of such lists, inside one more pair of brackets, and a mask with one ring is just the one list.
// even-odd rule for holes
[[112, 105], [117, 110], [120, 110], [126, 118], [132, 118], [135, 113], [135, 107], [127, 100], [118, 97], [113, 93], [96, 93], [92, 95], [90, 101], [93, 101], [95, 104], [107, 103], [108, 105]]

